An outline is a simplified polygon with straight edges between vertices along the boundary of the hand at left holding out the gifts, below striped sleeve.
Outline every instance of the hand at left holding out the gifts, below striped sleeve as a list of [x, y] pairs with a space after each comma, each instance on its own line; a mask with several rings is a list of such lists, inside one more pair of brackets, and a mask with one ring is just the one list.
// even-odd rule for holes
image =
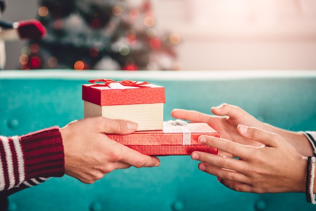
[[65, 153], [65, 173], [84, 183], [93, 183], [107, 173], [131, 166], [157, 167], [159, 159], [124, 146], [106, 135], [129, 134], [137, 124], [104, 117], [69, 123], [60, 131]]

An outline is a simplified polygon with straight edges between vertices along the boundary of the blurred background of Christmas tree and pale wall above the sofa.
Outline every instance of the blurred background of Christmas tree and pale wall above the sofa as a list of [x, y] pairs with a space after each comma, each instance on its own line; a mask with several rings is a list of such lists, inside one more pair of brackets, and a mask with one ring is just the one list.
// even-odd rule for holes
[[6, 42], [5, 70], [316, 69], [314, 0], [10, 0], [42, 40]]

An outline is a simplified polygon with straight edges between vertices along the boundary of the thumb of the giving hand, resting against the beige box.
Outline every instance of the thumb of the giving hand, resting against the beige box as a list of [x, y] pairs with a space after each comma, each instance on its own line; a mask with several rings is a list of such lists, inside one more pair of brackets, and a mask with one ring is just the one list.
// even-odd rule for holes
[[138, 128], [138, 124], [126, 121], [126, 120], [114, 120], [104, 117], [94, 118], [98, 132], [109, 133], [109, 134], [129, 134], [134, 132]]

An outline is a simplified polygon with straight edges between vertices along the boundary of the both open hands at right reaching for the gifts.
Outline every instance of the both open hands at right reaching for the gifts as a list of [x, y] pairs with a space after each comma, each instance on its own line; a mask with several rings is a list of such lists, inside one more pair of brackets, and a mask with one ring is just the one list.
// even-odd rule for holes
[[172, 111], [174, 118], [206, 122], [220, 133], [221, 138], [199, 138], [201, 143], [218, 148], [221, 155], [192, 152], [192, 159], [202, 162], [198, 166], [201, 171], [237, 191], [304, 192], [305, 156], [312, 155], [312, 147], [303, 134], [262, 123], [230, 104], [212, 108], [212, 112], [215, 116]]

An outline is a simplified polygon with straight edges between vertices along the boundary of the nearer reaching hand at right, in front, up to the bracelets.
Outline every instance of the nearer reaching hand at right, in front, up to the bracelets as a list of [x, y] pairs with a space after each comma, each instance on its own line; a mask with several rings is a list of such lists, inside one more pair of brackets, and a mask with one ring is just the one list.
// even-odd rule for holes
[[200, 142], [239, 157], [239, 160], [193, 152], [193, 160], [201, 161], [199, 169], [218, 177], [225, 186], [243, 192], [304, 192], [306, 157], [275, 133], [239, 125], [240, 136], [262, 144], [241, 145], [227, 139], [200, 136]]

